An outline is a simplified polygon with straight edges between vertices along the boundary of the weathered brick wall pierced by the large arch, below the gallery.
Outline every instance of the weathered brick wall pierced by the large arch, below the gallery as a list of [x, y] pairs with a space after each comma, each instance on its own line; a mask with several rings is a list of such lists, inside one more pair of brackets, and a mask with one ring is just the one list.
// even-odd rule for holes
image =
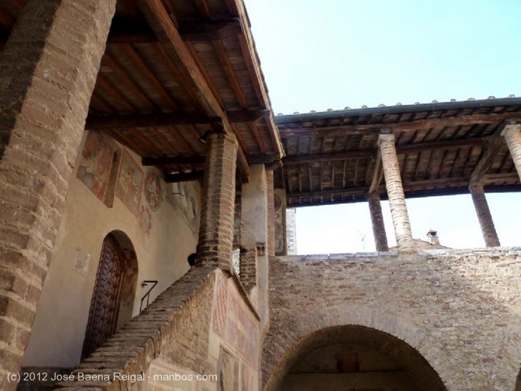
[[301, 340], [360, 325], [412, 346], [448, 390], [513, 390], [521, 362], [519, 275], [519, 248], [276, 258], [263, 388], [276, 389]]

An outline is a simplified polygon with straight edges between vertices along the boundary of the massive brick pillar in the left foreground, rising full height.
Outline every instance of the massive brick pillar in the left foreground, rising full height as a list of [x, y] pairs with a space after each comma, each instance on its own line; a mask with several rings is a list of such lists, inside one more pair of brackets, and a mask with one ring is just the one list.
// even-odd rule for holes
[[0, 389], [20, 369], [116, 0], [29, 0], [0, 55]]

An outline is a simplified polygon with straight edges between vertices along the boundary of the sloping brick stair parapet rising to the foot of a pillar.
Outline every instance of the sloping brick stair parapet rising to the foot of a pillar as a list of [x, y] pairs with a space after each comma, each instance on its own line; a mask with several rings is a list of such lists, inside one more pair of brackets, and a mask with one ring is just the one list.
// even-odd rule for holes
[[199, 373], [213, 373], [208, 361], [210, 315], [214, 294], [214, 267], [192, 268], [110, 337], [72, 374], [109, 375], [110, 381], [67, 381], [57, 390], [137, 390], [142, 382], [114, 380], [114, 373], [146, 372], [155, 358], [176, 362]]

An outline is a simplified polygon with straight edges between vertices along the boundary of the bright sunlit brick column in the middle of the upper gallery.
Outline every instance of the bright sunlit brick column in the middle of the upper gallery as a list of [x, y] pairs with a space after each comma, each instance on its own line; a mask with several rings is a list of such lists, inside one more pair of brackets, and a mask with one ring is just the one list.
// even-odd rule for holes
[[378, 144], [398, 249], [400, 251], [414, 251], [411, 223], [405, 204], [400, 166], [394, 146], [394, 134], [380, 134]]

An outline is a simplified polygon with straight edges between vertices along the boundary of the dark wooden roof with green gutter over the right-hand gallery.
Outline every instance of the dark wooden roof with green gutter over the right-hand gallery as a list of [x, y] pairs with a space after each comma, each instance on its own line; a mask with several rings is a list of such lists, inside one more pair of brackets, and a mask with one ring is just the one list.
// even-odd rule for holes
[[[521, 118], [521, 99], [369, 108], [367, 115], [364, 109], [351, 111], [276, 118], [287, 150], [282, 159], [286, 182], [296, 184], [292, 175], [305, 165], [312, 184], [302, 190], [286, 188], [290, 206], [363, 201], [370, 191], [385, 199], [381, 166], [375, 163], [378, 133], [384, 128], [395, 134], [406, 196], [462, 193], [501, 123]], [[308, 140], [312, 143], [306, 147]], [[489, 153], [490, 165], [481, 163], [487, 191], [521, 190], [502, 139], [498, 148]], [[315, 165], [317, 170], [312, 169]], [[282, 185], [280, 175], [275, 178], [276, 185]]]

